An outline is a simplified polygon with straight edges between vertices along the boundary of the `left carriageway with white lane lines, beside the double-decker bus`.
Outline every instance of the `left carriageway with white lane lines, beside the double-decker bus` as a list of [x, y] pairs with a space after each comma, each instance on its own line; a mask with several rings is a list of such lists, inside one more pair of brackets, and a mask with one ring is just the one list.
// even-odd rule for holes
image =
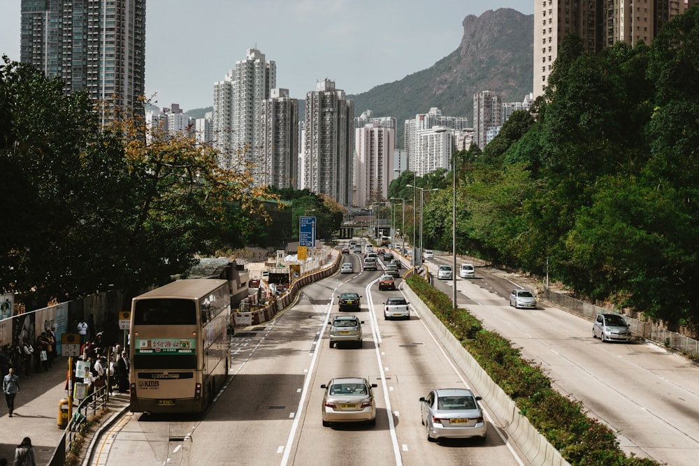
[[[355, 270], [361, 256], [350, 254]], [[381, 303], [400, 291], [377, 290], [381, 272], [333, 277], [307, 286], [295, 305], [233, 338], [231, 376], [200, 417], [128, 414], [102, 444], [108, 465], [524, 465], [491, 419], [488, 437], [430, 443], [418, 398], [431, 388], [468, 386], [419, 315], [384, 321]], [[327, 323], [340, 291], [362, 298], [361, 349], [329, 348]], [[378, 316], [378, 318], [377, 318]], [[321, 422], [331, 377], [376, 383], [377, 422]], [[483, 407], [489, 414], [487, 400]]]

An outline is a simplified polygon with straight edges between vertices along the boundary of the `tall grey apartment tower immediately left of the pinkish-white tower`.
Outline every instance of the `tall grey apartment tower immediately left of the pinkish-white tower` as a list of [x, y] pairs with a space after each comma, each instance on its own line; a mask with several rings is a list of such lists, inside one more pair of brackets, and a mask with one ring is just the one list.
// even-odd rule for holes
[[306, 94], [303, 154], [304, 186], [340, 205], [352, 203], [354, 101], [335, 82], [318, 82]]

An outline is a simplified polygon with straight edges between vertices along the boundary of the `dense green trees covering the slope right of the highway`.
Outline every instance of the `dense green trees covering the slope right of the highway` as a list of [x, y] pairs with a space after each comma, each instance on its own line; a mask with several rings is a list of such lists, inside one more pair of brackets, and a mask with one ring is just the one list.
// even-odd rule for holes
[[[697, 63], [698, 7], [651, 45], [593, 54], [566, 36], [532, 111], [459, 153], [458, 251], [534, 273], [548, 261], [577, 293], [698, 324]], [[449, 199], [433, 198], [428, 238], [448, 251]]]

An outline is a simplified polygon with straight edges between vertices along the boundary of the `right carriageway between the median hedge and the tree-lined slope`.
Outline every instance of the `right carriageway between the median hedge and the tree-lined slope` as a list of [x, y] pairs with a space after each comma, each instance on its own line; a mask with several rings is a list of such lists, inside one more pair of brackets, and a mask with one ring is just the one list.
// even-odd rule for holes
[[[428, 266], [436, 270], [451, 261], [438, 258]], [[433, 283], [452, 296], [452, 280]], [[457, 278], [457, 302], [547, 370], [560, 393], [610, 425], [624, 451], [668, 465], [696, 465], [699, 367], [655, 344], [602, 343], [592, 337], [591, 321], [545, 303], [515, 310], [509, 294], [517, 287], [477, 268], [475, 279]]]

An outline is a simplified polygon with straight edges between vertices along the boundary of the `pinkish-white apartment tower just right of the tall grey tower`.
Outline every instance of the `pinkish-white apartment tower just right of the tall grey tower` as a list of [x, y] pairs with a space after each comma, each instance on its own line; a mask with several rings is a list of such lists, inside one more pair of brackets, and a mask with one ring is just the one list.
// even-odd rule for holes
[[389, 121], [367, 123], [354, 130], [356, 147], [354, 205], [385, 201], [394, 179], [396, 128]]

